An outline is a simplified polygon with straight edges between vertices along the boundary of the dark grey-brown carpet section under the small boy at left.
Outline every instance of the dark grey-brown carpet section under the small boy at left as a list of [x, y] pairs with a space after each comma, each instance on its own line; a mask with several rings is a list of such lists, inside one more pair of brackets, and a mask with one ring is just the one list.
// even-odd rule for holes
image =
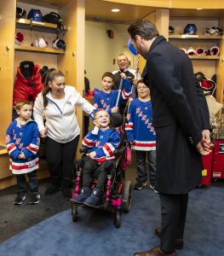
[[0, 242], [70, 207], [70, 202], [64, 200], [60, 191], [55, 195], [44, 195], [48, 185], [49, 179], [39, 183], [41, 199], [37, 205], [26, 204], [27, 198], [21, 206], [14, 206], [15, 186], [0, 190]]

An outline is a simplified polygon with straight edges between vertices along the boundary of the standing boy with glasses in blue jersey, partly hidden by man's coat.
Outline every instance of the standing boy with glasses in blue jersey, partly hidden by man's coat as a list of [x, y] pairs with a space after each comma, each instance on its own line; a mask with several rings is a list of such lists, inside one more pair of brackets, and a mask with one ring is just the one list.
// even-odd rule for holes
[[147, 171], [146, 158], [149, 163], [150, 188], [155, 192], [156, 188], [156, 133], [152, 127], [152, 105], [150, 101], [150, 90], [142, 79], [137, 84], [138, 98], [130, 102], [125, 125], [128, 141], [131, 148], [135, 149], [137, 177], [135, 189], [146, 186]]

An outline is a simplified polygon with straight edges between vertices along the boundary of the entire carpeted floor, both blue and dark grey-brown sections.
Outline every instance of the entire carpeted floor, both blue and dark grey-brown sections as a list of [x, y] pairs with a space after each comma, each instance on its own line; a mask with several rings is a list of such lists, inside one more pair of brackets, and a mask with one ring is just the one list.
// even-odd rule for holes
[[[135, 154], [126, 177], [135, 183]], [[40, 182], [36, 206], [14, 206], [15, 187], [0, 190], [1, 256], [131, 256], [158, 245], [154, 229], [160, 224], [158, 195], [146, 187], [133, 190], [133, 204], [123, 213], [120, 229], [112, 213], [78, 207], [72, 222], [70, 201], [60, 192], [44, 195], [49, 180]], [[189, 196], [185, 247], [178, 256], [222, 256], [224, 181], [194, 189]]]

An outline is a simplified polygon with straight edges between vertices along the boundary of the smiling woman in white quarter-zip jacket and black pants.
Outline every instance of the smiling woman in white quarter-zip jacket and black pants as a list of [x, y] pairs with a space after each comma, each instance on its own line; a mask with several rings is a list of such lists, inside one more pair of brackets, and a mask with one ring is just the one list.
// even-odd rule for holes
[[95, 110], [74, 87], [66, 85], [65, 75], [60, 70], [50, 70], [44, 81], [43, 92], [37, 96], [33, 108], [40, 135], [45, 137], [52, 182], [45, 191], [46, 195], [61, 189], [62, 195], [71, 197], [74, 157], [80, 134], [76, 106], [89, 114]]

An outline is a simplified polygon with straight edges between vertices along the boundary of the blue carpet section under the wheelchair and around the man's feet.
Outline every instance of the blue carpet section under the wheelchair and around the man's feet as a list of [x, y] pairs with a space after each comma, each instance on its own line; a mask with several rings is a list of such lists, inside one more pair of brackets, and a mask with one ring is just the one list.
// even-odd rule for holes
[[[224, 183], [190, 193], [185, 246], [178, 256], [224, 255], [223, 193]], [[120, 229], [112, 224], [109, 212], [78, 210], [77, 223], [72, 222], [70, 209], [60, 212], [4, 241], [0, 255], [131, 256], [159, 243], [153, 233], [160, 224], [159, 198], [152, 189], [133, 191], [131, 211], [123, 213]]]

